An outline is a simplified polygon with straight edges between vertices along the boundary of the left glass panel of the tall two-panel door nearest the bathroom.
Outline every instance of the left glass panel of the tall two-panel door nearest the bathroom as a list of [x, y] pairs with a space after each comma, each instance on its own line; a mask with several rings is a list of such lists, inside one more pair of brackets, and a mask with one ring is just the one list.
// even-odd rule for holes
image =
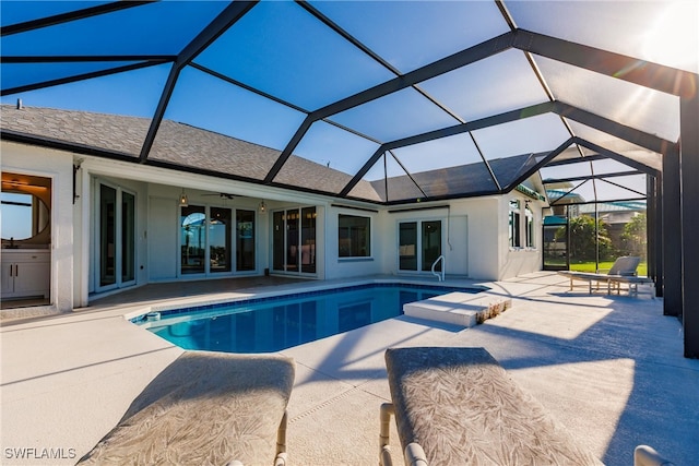
[[117, 190], [99, 184], [99, 286], [117, 283]]

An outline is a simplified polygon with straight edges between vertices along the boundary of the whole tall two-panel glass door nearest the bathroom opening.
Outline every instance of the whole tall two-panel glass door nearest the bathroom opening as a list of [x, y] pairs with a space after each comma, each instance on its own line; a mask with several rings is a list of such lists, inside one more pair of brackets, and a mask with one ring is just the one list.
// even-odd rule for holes
[[98, 184], [99, 290], [135, 282], [135, 195]]

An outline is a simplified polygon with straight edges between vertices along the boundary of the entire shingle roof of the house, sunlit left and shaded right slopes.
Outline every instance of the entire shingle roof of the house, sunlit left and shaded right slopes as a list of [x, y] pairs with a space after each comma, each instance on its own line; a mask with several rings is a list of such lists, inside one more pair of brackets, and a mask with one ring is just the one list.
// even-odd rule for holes
[[[13, 131], [49, 141], [94, 147], [138, 158], [150, 120], [87, 111], [52, 108], [0, 106], [2, 131]], [[212, 174], [226, 174], [262, 180], [280, 151], [252, 144], [216, 132], [171, 120], [163, 120], [149, 160], [194, 168]], [[438, 156], [438, 154], [436, 155]], [[514, 180], [534, 158], [520, 155], [489, 160], [499, 180]], [[275, 183], [337, 193], [352, 176], [311, 160], [291, 156], [274, 179]], [[439, 198], [449, 193], [497, 193], [493, 178], [483, 163], [462, 165], [413, 175], [420, 191], [407, 176], [388, 179], [387, 198], [383, 180], [360, 181], [352, 195], [375, 202]]]

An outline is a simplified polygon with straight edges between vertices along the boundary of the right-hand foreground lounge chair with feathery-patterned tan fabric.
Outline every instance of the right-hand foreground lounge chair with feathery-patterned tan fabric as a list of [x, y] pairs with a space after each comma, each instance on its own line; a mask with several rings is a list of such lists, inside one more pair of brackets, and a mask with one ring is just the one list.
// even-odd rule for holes
[[390, 419], [406, 465], [600, 465], [484, 348], [390, 348], [393, 403], [381, 406], [379, 463], [392, 465]]

